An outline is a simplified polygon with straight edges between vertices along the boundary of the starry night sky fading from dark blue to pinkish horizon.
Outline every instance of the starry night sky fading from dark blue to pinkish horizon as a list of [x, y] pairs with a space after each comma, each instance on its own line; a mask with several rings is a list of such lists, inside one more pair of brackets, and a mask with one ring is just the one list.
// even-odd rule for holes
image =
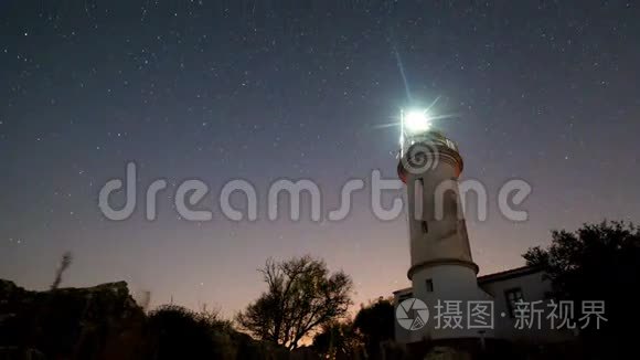
[[[349, 179], [395, 178], [382, 125], [438, 96], [463, 178], [489, 190], [488, 221], [468, 220], [481, 273], [522, 265], [552, 229], [639, 220], [639, 19], [630, 1], [2, 0], [0, 277], [46, 288], [68, 250], [65, 286], [125, 279], [154, 305], [231, 315], [264, 289], [267, 257], [310, 253], [353, 276], [356, 303], [391, 295], [408, 284], [406, 220], [377, 220], [366, 192], [340, 222], [270, 222], [264, 202], [234, 222], [214, 198], [232, 179], [264, 200], [306, 178], [332, 210]], [[154, 222], [98, 209], [129, 160], [138, 200], [171, 184]], [[173, 209], [193, 178], [211, 222]], [[512, 178], [533, 187], [523, 223], [497, 211]]]

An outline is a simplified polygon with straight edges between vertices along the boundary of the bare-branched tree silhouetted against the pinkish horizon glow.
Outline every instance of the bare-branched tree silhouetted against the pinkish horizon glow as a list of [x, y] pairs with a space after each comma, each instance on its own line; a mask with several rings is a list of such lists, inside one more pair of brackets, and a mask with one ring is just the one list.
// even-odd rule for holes
[[323, 261], [269, 258], [259, 272], [267, 292], [241, 311], [236, 321], [263, 340], [295, 349], [314, 329], [344, 316], [351, 305], [351, 277], [341, 271], [330, 274]]

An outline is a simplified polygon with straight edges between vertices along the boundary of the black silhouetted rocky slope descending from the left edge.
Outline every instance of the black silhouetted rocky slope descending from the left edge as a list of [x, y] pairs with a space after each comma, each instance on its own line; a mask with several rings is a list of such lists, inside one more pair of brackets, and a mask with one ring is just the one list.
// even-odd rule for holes
[[231, 324], [201, 329], [192, 311], [161, 308], [146, 315], [124, 282], [30, 292], [0, 279], [0, 359], [289, 359]]

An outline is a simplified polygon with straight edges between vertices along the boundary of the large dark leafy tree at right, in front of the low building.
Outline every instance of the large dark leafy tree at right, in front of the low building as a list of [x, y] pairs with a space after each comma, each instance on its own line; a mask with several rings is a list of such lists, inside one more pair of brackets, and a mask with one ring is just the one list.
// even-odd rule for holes
[[[605, 318], [580, 330], [588, 347], [608, 356], [634, 345], [631, 331], [640, 324], [640, 231], [626, 222], [585, 224], [576, 232], [554, 231], [552, 244], [530, 248], [527, 265], [541, 266], [552, 282], [552, 296], [573, 300], [574, 318], [582, 317], [585, 300], [604, 300]], [[578, 324], [579, 327], [579, 324]], [[591, 352], [594, 356], [597, 351]]]

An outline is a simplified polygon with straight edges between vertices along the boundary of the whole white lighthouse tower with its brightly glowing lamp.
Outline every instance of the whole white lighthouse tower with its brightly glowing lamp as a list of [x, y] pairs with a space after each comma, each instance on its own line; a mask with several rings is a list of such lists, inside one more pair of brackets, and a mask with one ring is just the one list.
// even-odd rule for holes
[[431, 129], [426, 112], [403, 113], [401, 124], [397, 170], [407, 191], [407, 276], [412, 297], [429, 309], [426, 325], [407, 331], [407, 340], [492, 337], [491, 330], [479, 331], [468, 322], [469, 304], [492, 297], [478, 286], [478, 265], [471, 257], [458, 190], [462, 157], [454, 141]]

